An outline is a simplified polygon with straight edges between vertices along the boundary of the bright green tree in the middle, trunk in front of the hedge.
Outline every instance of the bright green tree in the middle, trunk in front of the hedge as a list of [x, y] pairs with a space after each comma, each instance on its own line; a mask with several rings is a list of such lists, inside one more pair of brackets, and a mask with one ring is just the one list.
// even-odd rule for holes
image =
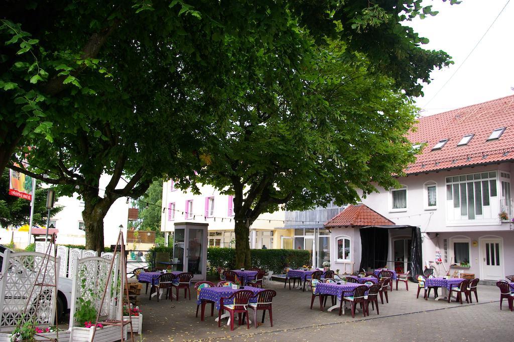
[[[432, 57], [427, 72], [448, 62]], [[355, 203], [359, 190], [365, 196], [376, 186], [395, 186], [393, 175], [414, 160], [405, 138], [415, 122], [410, 95], [418, 93], [418, 79], [405, 83], [411, 71], [382, 69], [353, 44], [330, 39], [309, 66], [285, 85], [273, 77], [254, 80], [234, 98], [229, 118], [212, 129], [217, 142], [204, 168], [191, 180], [193, 188], [207, 183], [234, 194], [237, 267], [250, 266], [249, 226], [261, 213], [333, 199]]]

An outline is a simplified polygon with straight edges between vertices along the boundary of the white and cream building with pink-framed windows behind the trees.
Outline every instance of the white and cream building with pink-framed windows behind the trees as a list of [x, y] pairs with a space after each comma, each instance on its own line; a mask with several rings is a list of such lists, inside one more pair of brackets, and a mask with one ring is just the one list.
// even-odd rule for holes
[[[166, 243], [174, 231], [175, 222], [209, 224], [210, 247], [235, 247], [233, 196], [222, 195], [214, 187], [200, 186], [200, 194], [183, 192], [170, 179], [162, 186], [161, 231]], [[281, 237], [288, 233], [284, 226], [284, 211], [264, 213], [250, 226], [251, 248], [281, 248]]]

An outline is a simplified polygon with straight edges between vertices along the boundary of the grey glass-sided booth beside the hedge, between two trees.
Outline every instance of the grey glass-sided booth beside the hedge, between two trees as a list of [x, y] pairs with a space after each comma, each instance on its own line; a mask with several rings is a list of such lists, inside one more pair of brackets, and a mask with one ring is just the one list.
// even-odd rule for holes
[[207, 223], [175, 223], [173, 271], [191, 272], [193, 280], [206, 279], [208, 227]]

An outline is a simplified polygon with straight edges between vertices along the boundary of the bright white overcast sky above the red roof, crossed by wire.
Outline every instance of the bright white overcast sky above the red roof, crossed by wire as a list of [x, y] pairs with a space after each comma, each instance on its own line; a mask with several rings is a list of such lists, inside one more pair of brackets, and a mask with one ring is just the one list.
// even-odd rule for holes
[[455, 62], [434, 71], [433, 81], [423, 89], [425, 96], [417, 98], [424, 116], [514, 95], [510, 88], [514, 87], [514, 1], [508, 3], [464, 64], [507, 0], [464, 0], [453, 6], [449, 2], [425, 1], [424, 5], [433, 5], [439, 13], [411, 25], [430, 40], [424, 48], [444, 50]]

